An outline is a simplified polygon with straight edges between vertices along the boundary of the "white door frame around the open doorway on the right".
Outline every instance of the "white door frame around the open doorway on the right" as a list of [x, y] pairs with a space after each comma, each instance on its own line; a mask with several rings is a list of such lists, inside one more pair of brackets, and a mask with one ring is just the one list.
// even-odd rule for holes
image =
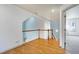
[[[66, 8], [64, 8], [63, 10], [61, 10], [61, 14], [60, 14], [60, 46], [62, 48], [65, 49], [65, 53], [66, 53], [66, 11], [77, 6], [78, 4], [71, 4], [69, 6], [67, 6]], [[65, 5], [66, 6], [66, 5]], [[64, 6], [64, 7], [65, 7]]]

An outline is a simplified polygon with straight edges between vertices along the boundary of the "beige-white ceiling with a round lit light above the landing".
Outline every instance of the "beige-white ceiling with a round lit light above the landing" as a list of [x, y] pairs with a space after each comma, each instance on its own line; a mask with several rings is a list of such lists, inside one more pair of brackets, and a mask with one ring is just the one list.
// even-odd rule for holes
[[[47, 19], [58, 20], [62, 4], [18, 4], [18, 6], [32, 13], [37, 13]], [[54, 13], [51, 12], [52, 9], [55, 10]]]

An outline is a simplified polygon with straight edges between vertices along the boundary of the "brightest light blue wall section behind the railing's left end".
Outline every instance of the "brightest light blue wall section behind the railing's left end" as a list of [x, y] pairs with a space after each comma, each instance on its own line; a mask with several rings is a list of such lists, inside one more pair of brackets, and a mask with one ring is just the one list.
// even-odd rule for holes
[[[23, 23], [23, 30], [33, 30], [36, 28], [36, 21], [37, 19], [35, 17], [28, 18], [27, 20], [24, 21]], [[38, 32], [23, 32], [23, 38], [24, 41], [27, 39], [33, 39], [37, 38]]]

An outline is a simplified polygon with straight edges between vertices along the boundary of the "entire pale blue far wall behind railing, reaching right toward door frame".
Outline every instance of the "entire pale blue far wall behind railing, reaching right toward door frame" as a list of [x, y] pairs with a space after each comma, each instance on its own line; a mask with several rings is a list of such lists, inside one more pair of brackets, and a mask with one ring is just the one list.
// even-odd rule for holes
[[[27, 20], [24, 21], [23, 23], [23, 30], [35, 30], [35, 29], [45, 29], [46, 26], [48, 26], [48, 22], [51, 25], [51, 29], [53, 29], [54, 36], [59, 39], [59, 22], [58, 21], [48, 21], [48, 20], [41, 20], [38, 17], [30, 17]], [[47, 25], [45, 26], [45, 24]], [[47, 27], [48, 29], [48, 27]], [[58, 32], [56, 32], [58, 30]], [[42, 32], [41, 35], [44, 34], [47, 37], [48, 32]], [[24, 41], [27, 39], [32, 40], [38, 38], [38, 32], [37, 31], [32, 31], [32, 32], [23, 32], [23, 38]], [[43, 36], [44, 38], [44, 36]]]

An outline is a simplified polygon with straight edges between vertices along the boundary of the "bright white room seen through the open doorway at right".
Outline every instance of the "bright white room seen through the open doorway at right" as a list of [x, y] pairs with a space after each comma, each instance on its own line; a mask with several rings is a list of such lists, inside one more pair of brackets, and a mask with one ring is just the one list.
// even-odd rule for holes
[[79, 5], [67, 9], [64, 20], [66, 53], [79, 54]]

